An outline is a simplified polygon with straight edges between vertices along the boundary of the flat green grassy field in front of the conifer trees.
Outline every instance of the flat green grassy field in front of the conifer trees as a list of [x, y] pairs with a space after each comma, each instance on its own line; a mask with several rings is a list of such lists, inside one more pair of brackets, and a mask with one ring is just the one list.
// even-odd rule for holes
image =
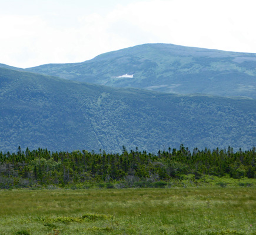
[[255, 187], [0, 190], [0, 235], [242, 235], [255, 222]]

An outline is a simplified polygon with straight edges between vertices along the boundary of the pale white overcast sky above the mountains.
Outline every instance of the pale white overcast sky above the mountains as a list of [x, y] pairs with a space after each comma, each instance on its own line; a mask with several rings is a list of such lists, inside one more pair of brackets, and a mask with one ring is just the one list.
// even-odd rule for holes
[[83, 62], [144, 43], [256, 53], [255, 6], [255, 0], [0, 0], [0, 63]]

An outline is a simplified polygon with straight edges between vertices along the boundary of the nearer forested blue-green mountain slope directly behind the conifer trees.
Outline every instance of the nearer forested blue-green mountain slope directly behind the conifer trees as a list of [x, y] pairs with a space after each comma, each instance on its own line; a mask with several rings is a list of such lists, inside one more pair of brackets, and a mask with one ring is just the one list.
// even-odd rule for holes
[[110, 88], [0, 68], [0, 150], [250, 149], [256, 100]]

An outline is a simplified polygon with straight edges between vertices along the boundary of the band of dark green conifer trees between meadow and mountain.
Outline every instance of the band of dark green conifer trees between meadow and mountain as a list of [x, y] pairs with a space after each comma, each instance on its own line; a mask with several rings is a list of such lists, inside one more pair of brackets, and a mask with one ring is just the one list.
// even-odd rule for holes
[[256, 177], [255, 156], [255, 147], [237, 152], [232, 147], [189, 151], [181, 145], [147, 153], [123, 146], [121, 154], [41, 148], [24, 152], [18, 147], [16, 153], [0, 152], [0, 188], [165, 187], [182, 180], [198, 184], [207, 177], [248, 179]]

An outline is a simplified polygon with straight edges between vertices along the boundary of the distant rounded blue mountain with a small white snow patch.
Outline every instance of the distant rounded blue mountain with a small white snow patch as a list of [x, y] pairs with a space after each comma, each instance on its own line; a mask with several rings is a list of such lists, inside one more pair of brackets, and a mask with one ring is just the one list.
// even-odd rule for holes
[[156, 43], [31, 72], [112, 87], [256, 98], [256, 54]]

